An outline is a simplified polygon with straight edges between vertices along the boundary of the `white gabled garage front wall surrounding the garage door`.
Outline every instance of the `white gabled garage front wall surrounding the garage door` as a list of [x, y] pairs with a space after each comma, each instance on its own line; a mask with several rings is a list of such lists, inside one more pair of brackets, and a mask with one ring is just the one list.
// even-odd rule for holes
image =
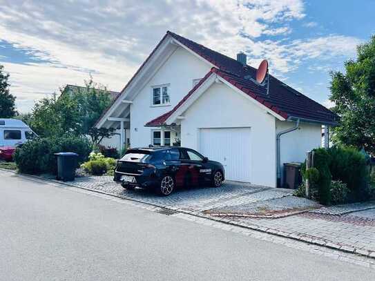
[[199, 128], [250, 127], [251, 183], [276, 186], [275, 117], [224, 84], [213, 84], [183, 115], [182, 146], [198, 151]]

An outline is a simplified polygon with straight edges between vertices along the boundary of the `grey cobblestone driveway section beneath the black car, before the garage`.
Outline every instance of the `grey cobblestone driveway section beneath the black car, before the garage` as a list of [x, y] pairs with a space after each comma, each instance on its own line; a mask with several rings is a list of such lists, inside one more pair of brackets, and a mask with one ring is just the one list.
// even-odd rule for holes
[[282, 198], [291, 196], [292, 193], [288, 189], [226, 182], [220, 188], [209, 186], [180, 188], [167, 197], [160, 197], [153, 191], [141, 188], [128, 191], [120, 184], [113, 182], [113, 177], [80, 177], [74, 183], [84, 188], [104, 191], [119, 197], [164, 206], [169, 209], [183, 209], [184, 211], [206, 211], [224, 206]]

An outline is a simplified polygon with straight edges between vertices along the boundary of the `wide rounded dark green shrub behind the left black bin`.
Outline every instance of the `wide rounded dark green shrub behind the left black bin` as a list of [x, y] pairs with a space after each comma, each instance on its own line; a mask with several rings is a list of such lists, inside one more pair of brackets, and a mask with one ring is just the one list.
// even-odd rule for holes
[[78, 164], [84, 162], [90, 153], [90, 142], [84, 137], [60, 137], [33, 139], [15, 152], [15, 162], [21, 173], [57, 173], [55, 153], [77, 153]]

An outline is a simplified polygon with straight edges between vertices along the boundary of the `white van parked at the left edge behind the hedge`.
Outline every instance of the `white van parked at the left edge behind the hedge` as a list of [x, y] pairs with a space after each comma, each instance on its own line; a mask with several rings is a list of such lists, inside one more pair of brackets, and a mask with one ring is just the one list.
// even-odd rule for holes
[[37, 135], [18, 119], [0, 119], [0, 146], [17, 146]]

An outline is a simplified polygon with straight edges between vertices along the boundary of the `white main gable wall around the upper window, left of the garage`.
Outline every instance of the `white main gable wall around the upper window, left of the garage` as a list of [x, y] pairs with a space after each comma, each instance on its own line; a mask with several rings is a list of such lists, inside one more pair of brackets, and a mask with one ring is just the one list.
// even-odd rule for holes
[[[200, 79], [209, 72], [210, 66], [187, 50], [177, 48], [173, 55], [140, 90], [131, 104], [131, 146], [151, 144], [151, 130], [144, 125], [171, 110], [193, 88], [193, 79]], [[170, 106], [151, 106], [152, 86], [170, 84]], [[180, 137], [180, 136], [177, 136]], [[174, 141], [171, 139], [171, 142]]]

